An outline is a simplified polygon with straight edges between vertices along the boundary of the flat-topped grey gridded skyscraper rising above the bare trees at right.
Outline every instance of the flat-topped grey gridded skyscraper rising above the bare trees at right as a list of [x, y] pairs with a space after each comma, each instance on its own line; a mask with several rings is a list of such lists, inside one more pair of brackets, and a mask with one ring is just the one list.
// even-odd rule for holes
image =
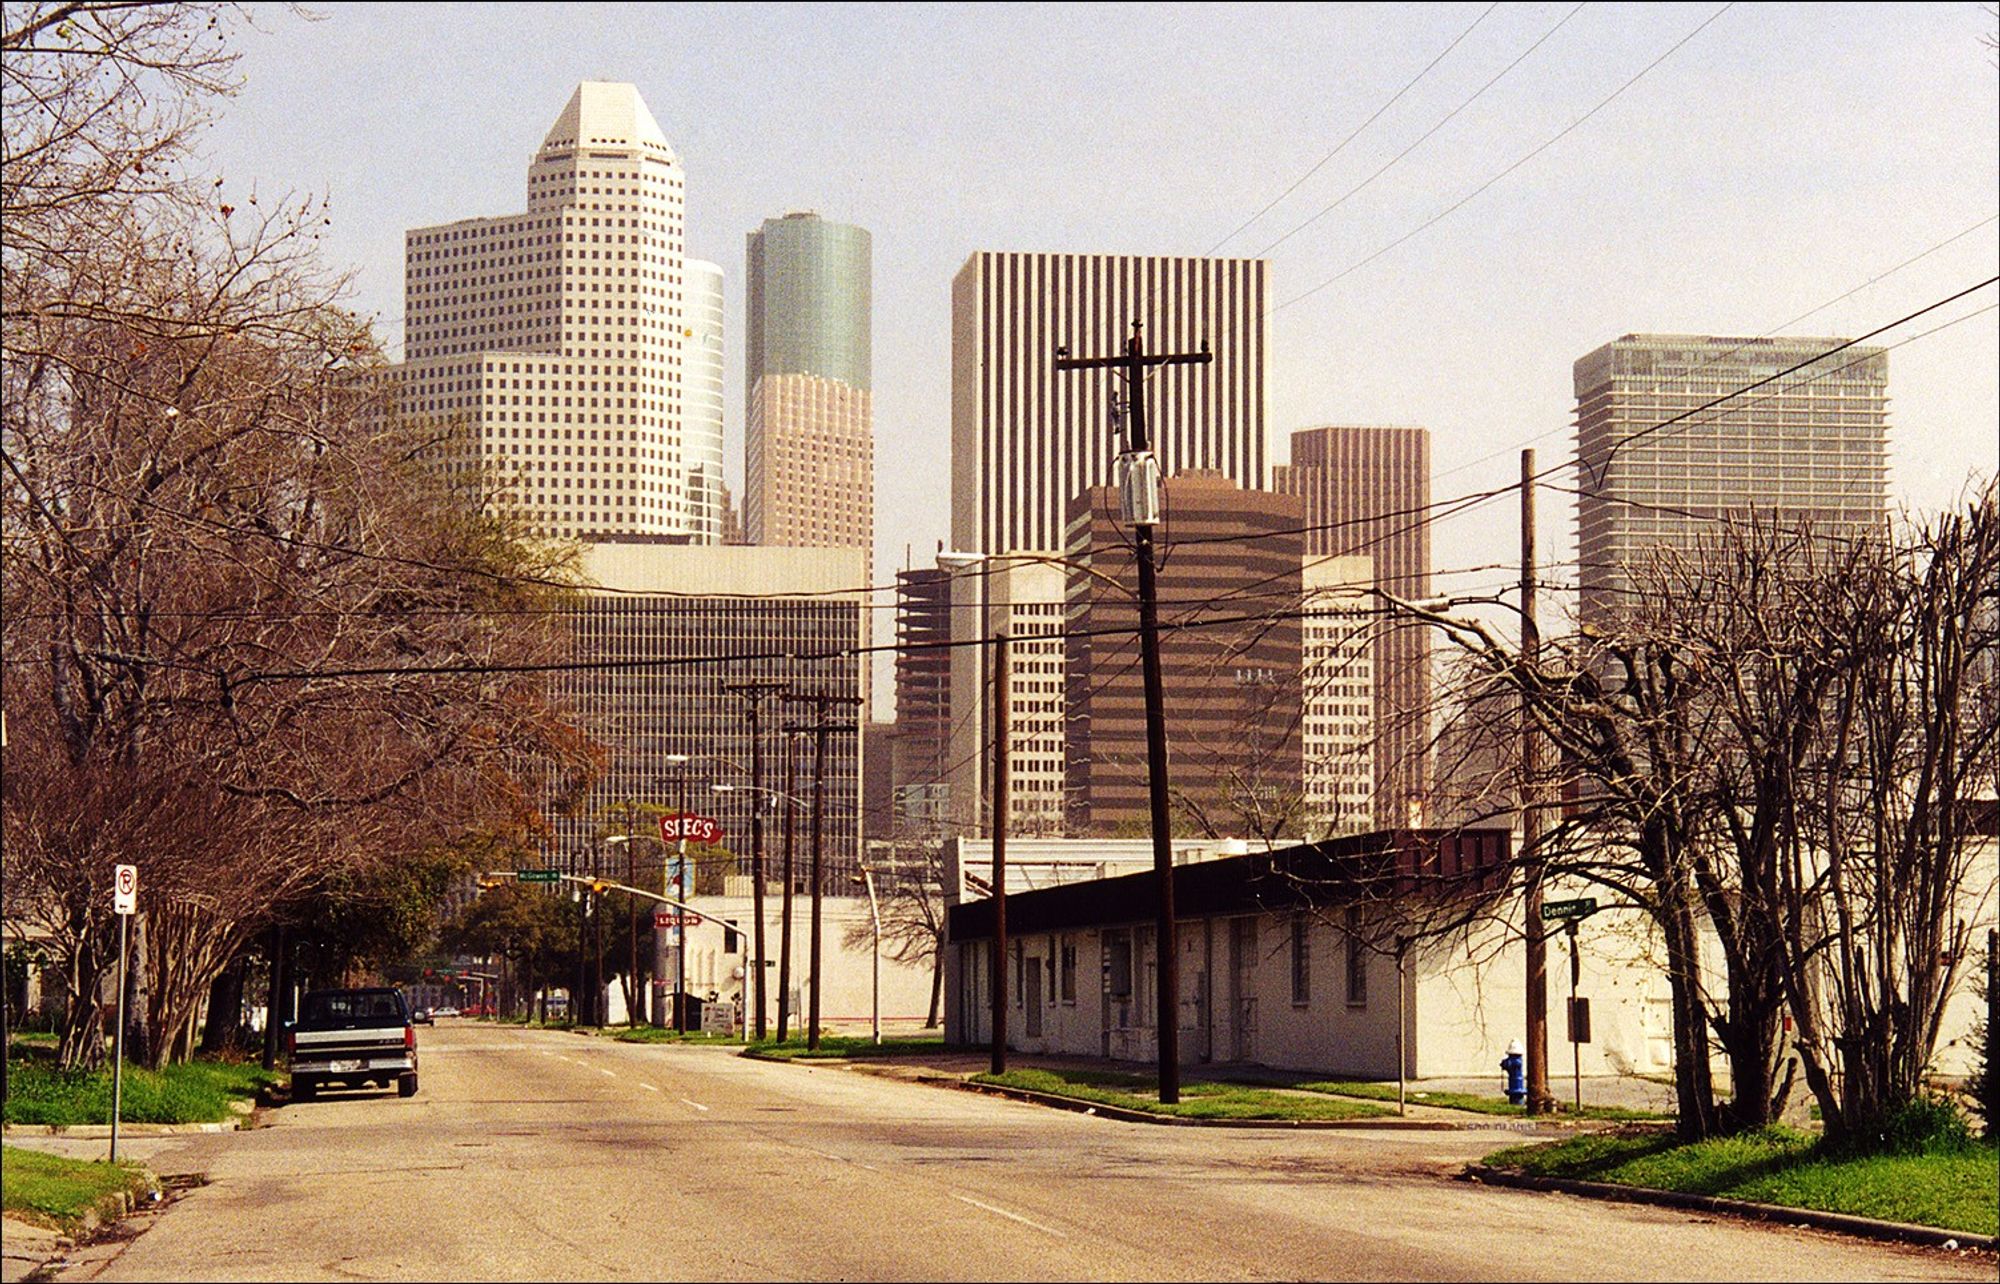
[[[1752, 512], [1838, 534], [1888, 504], [1888, 352], [1838, 338], [1626, 334], [1576, 362], [1582, 618], [1606, 622], [1648, 550]], [[1780, 370], [1778, 382], [1666, 420]]]

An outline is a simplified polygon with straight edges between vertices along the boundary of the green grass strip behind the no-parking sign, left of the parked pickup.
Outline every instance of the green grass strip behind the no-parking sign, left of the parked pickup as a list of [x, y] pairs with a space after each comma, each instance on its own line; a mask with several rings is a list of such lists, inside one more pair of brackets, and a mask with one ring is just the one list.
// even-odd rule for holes
[[[188, 1062], [166, 1070], [126, 1064], [122, 1118], [128, 1124], [212, 1124], [232, 1116], [232, 1100], [254, 1100], [278, 1074], [248, 1062]], [[46, 1058], [8, 1062], [6, 1122], [108, 1124], [112, 1072], [60, 1070]]]

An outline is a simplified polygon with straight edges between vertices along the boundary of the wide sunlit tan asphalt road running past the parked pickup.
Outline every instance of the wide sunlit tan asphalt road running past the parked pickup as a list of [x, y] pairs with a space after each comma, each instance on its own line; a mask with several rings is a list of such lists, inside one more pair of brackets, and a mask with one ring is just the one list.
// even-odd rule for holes
[[446, 1022], [416, 1098], [176, 1138], [62, 1280], [1984, 1280], [1992, 1262], [1446, 1180], [1512, 1132], [1162, 1128]]

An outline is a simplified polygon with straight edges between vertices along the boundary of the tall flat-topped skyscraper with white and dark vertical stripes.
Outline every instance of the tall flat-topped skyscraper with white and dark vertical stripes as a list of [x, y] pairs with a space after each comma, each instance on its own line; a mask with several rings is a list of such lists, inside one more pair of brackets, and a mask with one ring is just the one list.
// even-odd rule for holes
[[[1264, 484], [1266, 268], [1248, 258], [984, 250], [966, 260], [952, 280], [952, 546], [994, 556], [1008, 568], [1012, 596], [996, 610], [996, 576], [958, 578], [954, 640], [986, 636], [1012, 618], [1026, 624], [1028, 608], [1060, 610], [1060, 580], [1042, 600], [1028, 584], [1030, 562], [1060, 556], [1070, 500], [1112, 482], [1120, 440], [1110, 396], [1124, 394], [1122, 380], [1108, 370], [1058, 374], [1058, 346], [1076, 356], [1116, 354], [1134, 322], [1146, 326], [1152, 352], [1206, 344], [1210, 364], [1162, 366], [1148, 378], [1160, 468]], [[1054, 658], [1032, 662], [1056, 668]], [[988, 664], [986, 648], [952, 652], [952, 808], [966, 824], [984, 816]], [[1016, 774], [1022, 788], [1034, 780]], [[1056, 782], [1050, 774], [1048, 784]]]

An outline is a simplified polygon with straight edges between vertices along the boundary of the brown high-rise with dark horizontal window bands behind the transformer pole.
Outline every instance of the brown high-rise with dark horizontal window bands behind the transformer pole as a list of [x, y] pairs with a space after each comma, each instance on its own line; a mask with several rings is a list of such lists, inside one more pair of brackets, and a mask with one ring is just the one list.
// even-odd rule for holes
[[[1296, 834], [1300, 748], [1300, 552], [1304, 506], [1240, 490], [1220, 472], [1164, 484], [1160, 670], [1174, 824], [1226, 836]], [[1070, 502], [1064, 792], [1070, 826], [1142, 832], [1146, 698], [1138, 662], [1138, 564], [1118, 490]], [[1114, 586], [1116, 584], [1116, 586]], [[1272, 618], [1176, 628], [1222, 616]], [[1102, 630], [1134, 630], [1112, 636]], [[1080, 636], [1082, 634], [1082, 636]]]

